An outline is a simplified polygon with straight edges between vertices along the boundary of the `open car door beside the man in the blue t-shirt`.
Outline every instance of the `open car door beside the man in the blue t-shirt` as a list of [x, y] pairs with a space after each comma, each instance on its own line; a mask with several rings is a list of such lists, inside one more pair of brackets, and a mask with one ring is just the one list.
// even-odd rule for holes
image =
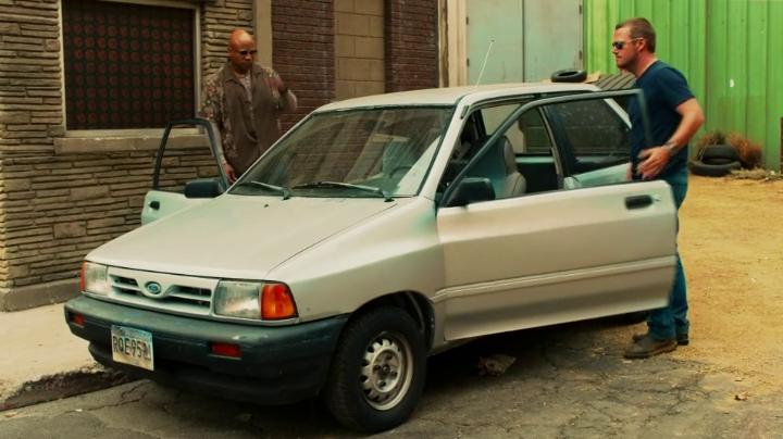
[[[613, 102], [622, 96], [642, 99], [634, 90], [520, 104], [445, 190], [437, 228], [446, 339], [666, 305], [676, 263], [676, 210], [666, 181], [625, 180], [630, 127]], [[544, 155], [520, 166], [525, 158], [512, 152], [517, 168], [509, 172], [514, 158], [508, 151], [521, 150], [509, 145], [520, 137], [511, 131], [531, 121], [531, 112], [540, 116], [535, 128], [545, 134], [554, 166]], [[529, 140], [536, 137], [522, 128]], [[531, 173], [537, 165], [546, 166]], [[552, 175], [543, 178], [545, 172]], [[527, 180], [515, 185], [524, 190], [506, 190], [512, 175]]]

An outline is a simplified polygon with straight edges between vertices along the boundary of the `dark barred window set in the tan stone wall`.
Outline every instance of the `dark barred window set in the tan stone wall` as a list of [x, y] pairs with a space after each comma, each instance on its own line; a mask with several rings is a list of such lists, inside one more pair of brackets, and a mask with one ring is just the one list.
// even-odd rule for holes
[[63, 0], [62, 14], [67, 129], [194, 116], [194, 9]]

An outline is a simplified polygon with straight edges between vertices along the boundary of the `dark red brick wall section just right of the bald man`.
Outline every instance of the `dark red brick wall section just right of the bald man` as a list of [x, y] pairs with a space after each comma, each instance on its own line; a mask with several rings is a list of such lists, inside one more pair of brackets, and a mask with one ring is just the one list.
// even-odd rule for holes
[[333, 0], [272, 2], [274, 67], [299, 99], [296, 113], [283, 116], [284, 129], [334, 100], [333, 8]]

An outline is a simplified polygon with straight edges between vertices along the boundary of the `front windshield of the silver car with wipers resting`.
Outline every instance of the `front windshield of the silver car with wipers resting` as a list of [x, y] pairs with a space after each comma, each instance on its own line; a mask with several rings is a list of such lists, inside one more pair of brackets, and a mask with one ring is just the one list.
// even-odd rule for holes
[[452, 110], [395, 106], [313, 114], [229, 192], [385, 200], [415, 196]]

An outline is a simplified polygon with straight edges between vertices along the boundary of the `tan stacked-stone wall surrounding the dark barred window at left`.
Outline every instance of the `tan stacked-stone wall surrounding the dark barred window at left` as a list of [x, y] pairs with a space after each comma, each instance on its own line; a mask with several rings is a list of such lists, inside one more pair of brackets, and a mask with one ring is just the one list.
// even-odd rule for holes
[[[148, 148], [55, 152], [65, 134], [59, 1], [0, 2], [0, 311], [74, 296], [79, 261], [138, 226], [151, 184]], [[209, 73], [225, 61], [231, 30], [252, 27], [252, 0], [200, 4]]]

